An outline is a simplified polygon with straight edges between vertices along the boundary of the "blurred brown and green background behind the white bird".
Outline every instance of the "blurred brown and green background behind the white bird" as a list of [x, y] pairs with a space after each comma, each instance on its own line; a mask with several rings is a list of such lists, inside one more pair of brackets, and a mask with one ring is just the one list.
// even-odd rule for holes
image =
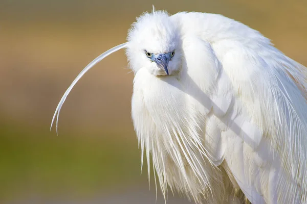
[[[146, 167], [140, 175], [123, 50], [85, 74], [62, 108], [59, 136], [49, 132], [77, 74], [125, 42], [152, 4], [234, 18], [307, 65], [304, 0], [0, 0], [0, 203], [156, 203]], [[189, 202], [169, 194], [168, 203]]]

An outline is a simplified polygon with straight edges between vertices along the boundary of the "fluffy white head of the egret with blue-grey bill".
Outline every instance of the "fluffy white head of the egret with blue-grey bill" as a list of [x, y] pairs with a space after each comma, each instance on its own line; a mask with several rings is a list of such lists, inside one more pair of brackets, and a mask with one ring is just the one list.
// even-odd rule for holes
[[128, 31], [127, 59], [136, 73], [145, 68], [153, 75], [173, 75], [181, 67], [180, 31], [163, 11], [144, 13]]

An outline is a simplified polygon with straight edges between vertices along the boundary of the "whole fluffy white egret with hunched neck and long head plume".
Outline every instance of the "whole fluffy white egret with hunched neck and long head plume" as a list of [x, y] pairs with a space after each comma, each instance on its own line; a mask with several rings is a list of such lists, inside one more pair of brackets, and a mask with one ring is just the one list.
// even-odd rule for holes
[[[144, 12], [125, 49], [131, 119], [164, 198], [195, 203], [307, 203], [307, 68], [220, 14]], [[146, 159], [144, 159], [146, 157]]]

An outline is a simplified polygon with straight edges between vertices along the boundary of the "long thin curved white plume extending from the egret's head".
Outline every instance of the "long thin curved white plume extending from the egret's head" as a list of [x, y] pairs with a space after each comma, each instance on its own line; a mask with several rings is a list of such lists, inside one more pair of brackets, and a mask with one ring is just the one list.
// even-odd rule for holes
[[106, 52], [102, 53], [101, 55], [99, 55], [97, 58], [95, 58], [95, 60], [93, 60], [90, 64], [88, 64], [76, 77], [76, 79], [73, 81], [73, 83], [68, 87], [68, 89], [65, 91], [64, 95], [62, 96], [58, 106], [56, 107], [56, 110], [54, 112], [52, 121], [51, 121], [51, 125], [50, 125], [50, 131], [52, 129], [52, 125], [56, 117], [56, 134], [58, 134], [58, 120], [59, 120], [59, 114], [60, 114], [60, 110], [68, 96], [68, 94], [71, 92], [71, 90], [73, 89], [73, 87], [77, 84], [77, 82], [81, 79], [81, 77], [83, 77], [83, 75], [89, 71], [93, 66], [95, 66], [98, 62], [100, 62], [101, 60], [103, 60], [105, 57], [111, 55], [112, 53], [117, 52], [118, 50], [122, 49], [122, 48], [126, 48], [127, 47], [127, 42], [122, 43], [120, 45], [117, 45], [109, 50], [107, 50]]

